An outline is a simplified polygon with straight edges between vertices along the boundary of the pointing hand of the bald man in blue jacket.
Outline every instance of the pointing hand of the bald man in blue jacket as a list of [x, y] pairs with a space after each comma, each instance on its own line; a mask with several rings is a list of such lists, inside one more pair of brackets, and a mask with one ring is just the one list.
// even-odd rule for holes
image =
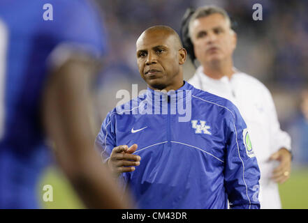
[[122, 145], [113, 148], [108, 160], [108, 167], [110, 167], [112, 173], [119, 176], [119, 174], [124, 172], [134, 171], [134, 166], [139, 166], [141, 160], [139, 155], [131, 154], [135, 152], [137, 148], [137, 144], [133, 144], [131, 147]]

